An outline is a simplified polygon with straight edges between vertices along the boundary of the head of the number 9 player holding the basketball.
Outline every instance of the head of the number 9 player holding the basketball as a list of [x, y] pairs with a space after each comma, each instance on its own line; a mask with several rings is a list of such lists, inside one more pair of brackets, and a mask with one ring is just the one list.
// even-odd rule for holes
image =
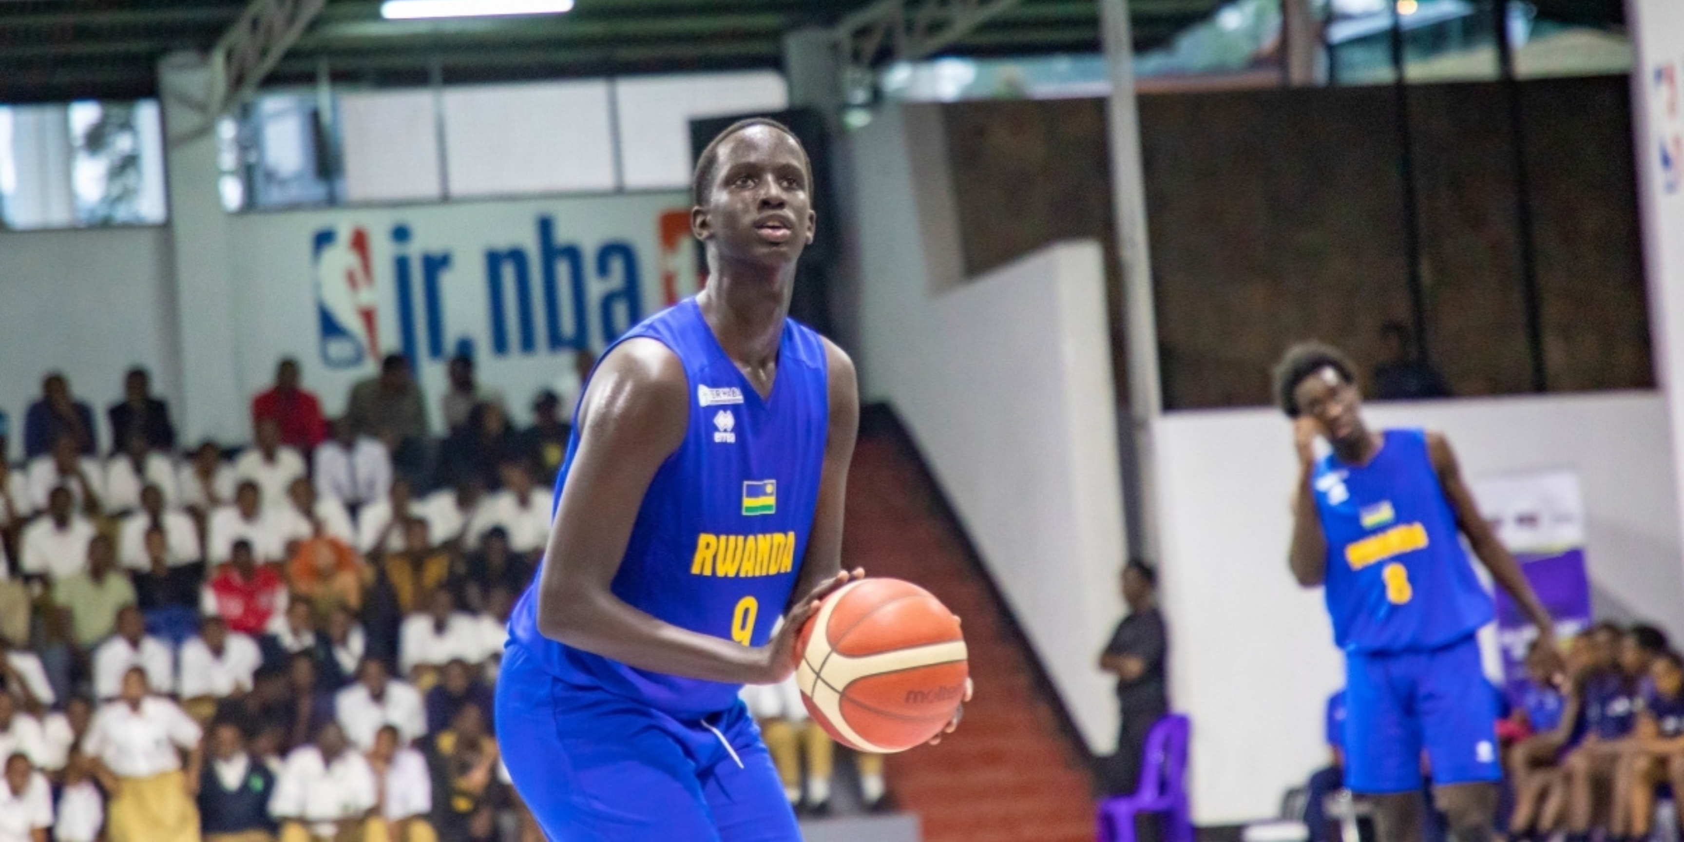
[[795, 266], [813, 241], [813, 167], [788, 126], [770, 118], [733, 123], [695, 160], [690, 231], [721, 263]]

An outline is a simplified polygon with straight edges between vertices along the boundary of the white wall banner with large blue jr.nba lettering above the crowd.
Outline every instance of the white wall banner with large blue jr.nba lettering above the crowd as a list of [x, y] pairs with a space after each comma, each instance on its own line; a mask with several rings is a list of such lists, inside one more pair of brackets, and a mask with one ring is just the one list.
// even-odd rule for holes
[[536, 391], [576, 389], [576, 352], [600, 354], [699, 276], [682, 192], [244, 214], [231, 227], [248, 391], [290, 355], [338, 411], [397, 350], [434, 424], [451, 355], [470, 352], [524, 419]]

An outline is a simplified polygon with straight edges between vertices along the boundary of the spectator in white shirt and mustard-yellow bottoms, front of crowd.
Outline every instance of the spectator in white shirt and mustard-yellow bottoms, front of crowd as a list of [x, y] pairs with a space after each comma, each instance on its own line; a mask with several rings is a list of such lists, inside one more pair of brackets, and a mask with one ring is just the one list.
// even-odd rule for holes
[[[121, 695], [88, 726], [88, 754], [109, 780], [106, 810], [111, 842], [179, 842], [199, 839], [194, 793], [204, 759], [204, 731], [162, 695], [148, 695], [147, 670], [123, 674]], [[187, 753], [185, 770], [182, 753]]]

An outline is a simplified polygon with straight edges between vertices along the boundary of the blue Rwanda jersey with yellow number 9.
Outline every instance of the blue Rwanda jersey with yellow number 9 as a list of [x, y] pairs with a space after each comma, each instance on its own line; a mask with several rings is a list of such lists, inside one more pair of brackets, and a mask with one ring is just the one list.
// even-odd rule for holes
[[[771, 396], [761, 399], [694, 298], [655, 313], [620, 342], [635, 337], [677, 354], [689, 377], [690, 419], [684, 443], [643, 493], [613, 593], [690, 632], [763, 645], [802, 573], [818, 502], [830, 426], [823, 340], [786, 320]], [[556, 477], [557, 505], [578, 448], [576, 423]], [[706, 716], [738, 699], [738, 685], [640, 670], [546, 638], [537, 630], [537, 579], [515, 605], [509, 637], [566, 684], [672, 716]]]

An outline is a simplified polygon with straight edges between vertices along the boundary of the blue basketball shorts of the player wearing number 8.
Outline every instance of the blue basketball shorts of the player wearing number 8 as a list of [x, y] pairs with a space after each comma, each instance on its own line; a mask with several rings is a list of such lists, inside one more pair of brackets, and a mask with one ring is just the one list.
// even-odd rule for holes
[[1421, 652], [1346, 653], [1346, 786], [1356, 793], [1502, 778], [1497, 697], [1468, 635]]

